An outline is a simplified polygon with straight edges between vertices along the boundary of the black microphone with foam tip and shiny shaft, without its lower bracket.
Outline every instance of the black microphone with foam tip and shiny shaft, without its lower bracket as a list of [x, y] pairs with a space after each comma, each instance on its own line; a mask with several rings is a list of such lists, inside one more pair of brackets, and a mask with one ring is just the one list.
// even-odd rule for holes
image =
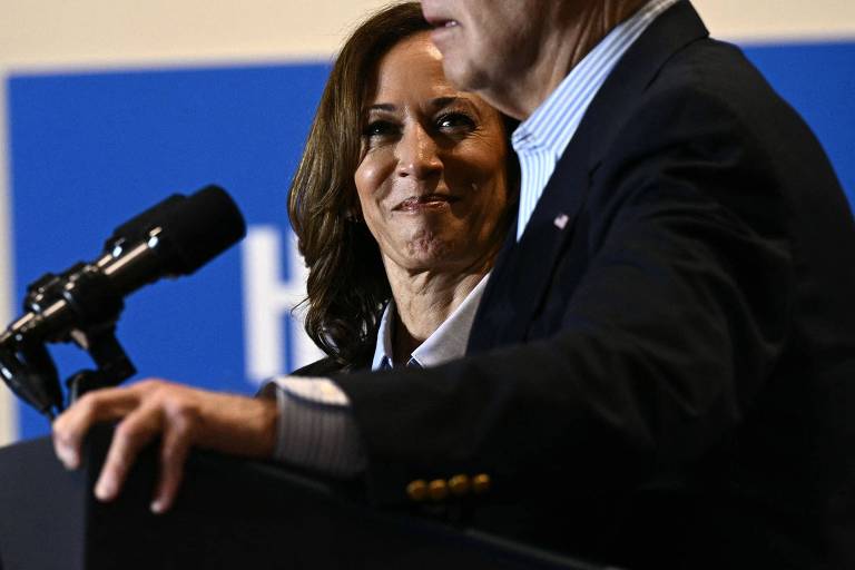
[[[173, 195], [117, 227], [96, 261], [33, 282], [24, 314], [0, 334], [0, 350], [19, 354], [46, 342], [68, 341], [88, 348], [82, 333], [112, 326], [126, 295], [161, 277], [190, 275], [245, 234], [240, 210], [222, 188]], [[56, 389], [23, 385], [31, 384], [21, 380], [27, 374], [12, 381], [11, 368], [20, 366], [2, 360], [0, 374], [19, 396], [39, 410], [56, 404], [46, 401], [49, 394], [56, 399]]]

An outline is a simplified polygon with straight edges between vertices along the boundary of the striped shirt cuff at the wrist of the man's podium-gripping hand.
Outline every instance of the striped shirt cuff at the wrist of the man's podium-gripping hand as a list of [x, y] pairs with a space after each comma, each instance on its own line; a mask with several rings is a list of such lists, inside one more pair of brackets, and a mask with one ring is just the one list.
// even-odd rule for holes
[[333, 381], [276, 376], [259, 395], [275, 395], [279, 409], [274, 459], [341, 478], [365, 469], [351, 402]]

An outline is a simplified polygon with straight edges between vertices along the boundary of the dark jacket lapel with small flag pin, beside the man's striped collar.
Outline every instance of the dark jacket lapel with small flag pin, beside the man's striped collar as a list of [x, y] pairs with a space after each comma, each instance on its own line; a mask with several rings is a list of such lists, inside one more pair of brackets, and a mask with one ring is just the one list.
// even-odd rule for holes
[[[681, 1], [657, 18], [623, 55], [556, 165], [522, 238], [515, 242], [515, 230], [509, 236], [475, 316], [469, 352], [525, 341], [573, 235], [591, 174], [616, 144], [617, 130], [667, 60], [707, 36], [695, 9]], [[569, 296], [572, 291], [561, 294]]]

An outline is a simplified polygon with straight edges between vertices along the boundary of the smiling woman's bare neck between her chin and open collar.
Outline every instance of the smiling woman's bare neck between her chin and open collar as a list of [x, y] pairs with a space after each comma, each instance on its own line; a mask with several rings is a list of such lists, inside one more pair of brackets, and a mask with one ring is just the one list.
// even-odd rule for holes
[[490, 271], [488, 267], [458, 273], [411, 273], [386, 265], [395, 322], [392, 324], [392, 357], [404, 364], [421, 344], [456, 309]]

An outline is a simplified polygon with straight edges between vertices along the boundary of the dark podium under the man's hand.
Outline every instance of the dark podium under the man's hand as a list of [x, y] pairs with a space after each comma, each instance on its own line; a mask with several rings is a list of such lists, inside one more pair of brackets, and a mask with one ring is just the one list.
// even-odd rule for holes
[[109, 441], [66, 471], [48, 439], [0, 449], [0, 569], [576, 569], [594, 567], [482, 533], [382, 513], [277, 465], [194, 452], [178, 501], [150, 514], [155, 456], [119, 499], [92, 487]]

